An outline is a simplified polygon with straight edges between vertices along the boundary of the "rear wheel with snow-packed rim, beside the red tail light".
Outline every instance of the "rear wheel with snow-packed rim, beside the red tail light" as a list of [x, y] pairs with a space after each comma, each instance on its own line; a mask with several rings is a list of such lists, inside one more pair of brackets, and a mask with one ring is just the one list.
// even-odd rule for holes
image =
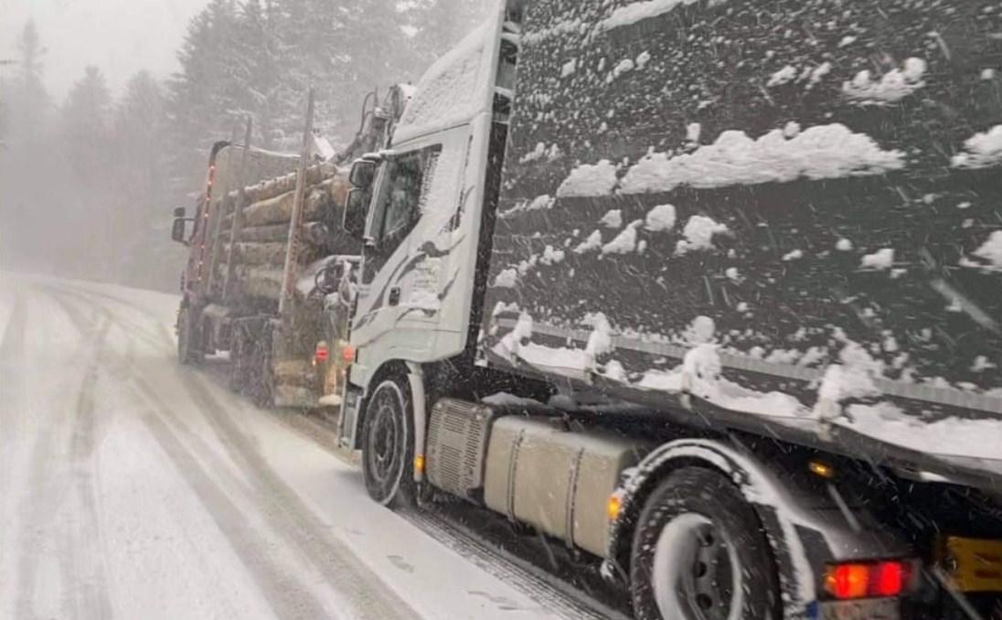
[[780, 617], [769, 541], [730, 481], [685, 468], [654, 490], [633, 533], [630, 598], [637, 620]]

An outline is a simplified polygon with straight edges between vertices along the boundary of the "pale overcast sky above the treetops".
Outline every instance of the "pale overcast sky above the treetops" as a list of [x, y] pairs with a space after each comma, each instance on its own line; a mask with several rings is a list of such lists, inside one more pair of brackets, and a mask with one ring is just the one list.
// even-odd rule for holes
[[[45, 83], [61, 102], [88, 64], [117, 94], [128, 77], [149, 69], [166, 77], [188, 20], [207, 0], [0, 0], [0, 59], [17, 55], [17, 36], [35, 19], [45, 55]], [[10, 67], [0, 67], [6, 74]]]

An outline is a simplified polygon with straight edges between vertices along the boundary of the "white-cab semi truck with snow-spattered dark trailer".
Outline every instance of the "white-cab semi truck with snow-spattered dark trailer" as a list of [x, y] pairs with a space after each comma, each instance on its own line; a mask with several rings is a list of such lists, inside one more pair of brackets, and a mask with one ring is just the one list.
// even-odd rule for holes
[[1002, 6], [502, 4], [351, 175], [370, 495], [643, 620], [1002, 617]]

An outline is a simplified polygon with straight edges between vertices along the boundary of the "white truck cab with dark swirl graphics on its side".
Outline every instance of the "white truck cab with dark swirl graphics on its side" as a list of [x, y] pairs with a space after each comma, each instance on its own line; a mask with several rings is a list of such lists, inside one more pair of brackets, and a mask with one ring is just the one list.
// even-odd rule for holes
[[[492, 140], [503, 140], [507, 119], [499, 110], [510, 106], [514, 58], [501, 55], [504, 30], [499, 11], [436, 62], [391, 148], [357, 164], [375, 165], [375, 174], [353, 174], [360, 185], [346, 222], [356, 222], [366, 247], [350, 385], [364, 392], [388, 362], [448, 360], [467, 347], [488, 158]], [[354, 401], [346, 402], [351, 410]], [[343, 416], [347, 445], [357, 445], [355, 419], [352, 411]]]

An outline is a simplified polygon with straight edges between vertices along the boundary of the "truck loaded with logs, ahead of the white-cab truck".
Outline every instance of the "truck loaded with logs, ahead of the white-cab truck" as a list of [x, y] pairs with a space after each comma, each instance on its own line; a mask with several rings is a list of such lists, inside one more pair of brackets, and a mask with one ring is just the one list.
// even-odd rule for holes
[[212, 146], [194, 216], [173, 213], [171, 236], [189, 250], [176, 325], [182, 364], [228, 356], [231, 389], [263, 407], [340, 404], [340, 357], [331, 353], [346, 338], [360, 249], [340, 226], [343, 164], [385, 145], [406, 93], [394, 86], [382, 101], [367, 97], [341, 153], [313, 130], [312, 92], [300, 154], [250, 146], [249, 119], [242, 143], [234, 132]]

